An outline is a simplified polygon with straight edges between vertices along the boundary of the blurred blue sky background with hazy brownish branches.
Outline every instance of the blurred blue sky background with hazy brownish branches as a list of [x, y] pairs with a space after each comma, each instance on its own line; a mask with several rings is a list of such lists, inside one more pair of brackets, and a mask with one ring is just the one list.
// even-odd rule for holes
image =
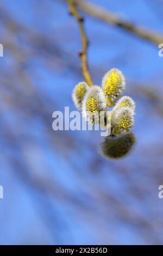
[[[162, 32], [161, 0], [92, 0]], [[136, 101], [130, 155], [109, 161], [99, 131], [53, 131], [83, 81], [78, 24], [60, 0], [0, 5], [1, 245], [163, 245], [163, 57], [158, 46], [81, 12], [95, 84], [111, 68]], [[163, 43], [163, 42], [162, 42]]]

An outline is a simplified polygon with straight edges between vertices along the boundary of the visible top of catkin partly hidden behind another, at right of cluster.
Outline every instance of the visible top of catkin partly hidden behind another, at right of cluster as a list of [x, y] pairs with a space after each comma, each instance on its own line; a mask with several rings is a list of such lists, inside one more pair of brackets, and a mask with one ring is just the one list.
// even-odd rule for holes
[[112, 111], [115, 111], [121, 107], [129, 107], [130, 109], [132, 109], [132, 111], [135, 114], [135, 102], [133, 99], [131, 99], [131, 97], [129, 97], [129, 96], [121, 97], [121, 99], [117, 101], [117, 103], [114, 106], [114, 108], [112, 109]]

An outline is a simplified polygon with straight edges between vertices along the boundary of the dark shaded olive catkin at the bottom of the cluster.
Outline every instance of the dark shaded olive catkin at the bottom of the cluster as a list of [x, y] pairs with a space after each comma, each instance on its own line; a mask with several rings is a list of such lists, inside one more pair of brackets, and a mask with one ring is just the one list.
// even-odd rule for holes
[[136, 138], [133, 132], [118, 137], [105, 137], [100, 144], [101, 153], [108, 159], [118, 159], [126, 156], [135, 144]]

